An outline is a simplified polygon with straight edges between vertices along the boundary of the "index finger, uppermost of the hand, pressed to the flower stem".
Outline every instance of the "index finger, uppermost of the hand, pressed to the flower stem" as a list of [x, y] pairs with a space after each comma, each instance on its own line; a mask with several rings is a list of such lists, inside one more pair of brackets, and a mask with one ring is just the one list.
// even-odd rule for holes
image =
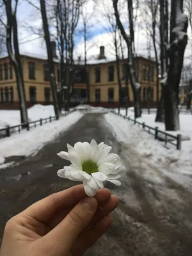
[[47, 196], [29, 206], [22, 214], [31, 216], [40, 222], [46, 222], [51, 219], [56, 211], [59, 211], [62, 207], [77, 204], [85, 196], [83, 185], [77, 185]]

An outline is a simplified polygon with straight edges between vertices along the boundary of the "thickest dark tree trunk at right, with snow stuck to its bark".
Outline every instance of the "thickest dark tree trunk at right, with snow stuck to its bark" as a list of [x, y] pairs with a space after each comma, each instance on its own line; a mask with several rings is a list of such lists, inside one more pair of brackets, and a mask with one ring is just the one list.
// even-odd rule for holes
[[182, 12], [183, 1], [172, 0], [171, 34], [168, 75], [163, 84], [164, 122], [166, 131], [179, 130], [179, 83], [184, 59], [184, 51], [188, 43], [186, 34], [188, 18]]

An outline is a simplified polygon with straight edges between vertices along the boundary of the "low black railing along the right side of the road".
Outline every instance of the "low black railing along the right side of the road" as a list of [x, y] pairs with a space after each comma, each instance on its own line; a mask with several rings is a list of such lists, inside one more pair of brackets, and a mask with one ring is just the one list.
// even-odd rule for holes
[[173, 146], [175, 146], [177, 148], [177, 150], [181, 150], [181, 139], [182, 139], [181, 134], [177, 134], [177, 136], [174, 136], [168, 132], [159, 130], [158, 127], [154, 128], [154, 127], [151, 127], [151, 126], [145, 124], [145, 122], [143, 122], [143, 123], [138, 122], [136, 119], [132, 119], [129, 116], [120, 115], [115, 112], [113, 112], [113, 114], [121, 116], [124, 119], [127, 119], [129, 121], [132, 121], [132, 122], [134, 122], [134, 124], [141, 125], [141, 127], [143, 127], [144, 131], [147, 131], [149, 134], [154, 135], [155, 140], [164, 141], [164, 147], [167, 147], [167, 144], [170, 143]]

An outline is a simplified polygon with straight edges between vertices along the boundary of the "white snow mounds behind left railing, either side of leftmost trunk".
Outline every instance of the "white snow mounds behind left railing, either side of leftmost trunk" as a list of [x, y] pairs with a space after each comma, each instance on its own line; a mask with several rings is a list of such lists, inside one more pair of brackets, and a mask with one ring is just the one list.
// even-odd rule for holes
[[[29, 121], [39, 120], [40, 118], [47, 118], [54, 116], [54, 107], [52, 105], [43, 106], [36, 104], [28, 109]], [[6, 125], [19, 125], [20, 111], [19, 110], [0, 110], [0, 129]]]

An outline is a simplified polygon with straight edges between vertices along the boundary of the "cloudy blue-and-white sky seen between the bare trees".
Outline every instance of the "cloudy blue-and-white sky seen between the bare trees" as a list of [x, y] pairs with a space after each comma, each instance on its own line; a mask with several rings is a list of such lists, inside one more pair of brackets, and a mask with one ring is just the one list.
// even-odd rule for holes
[[[39, 6], [39, 1], [31, 0], [32, 3]], [[127, 9], [123, 4], [123, 0], [120, 0], [120, 14], [122, 22], [127, 28], [128, 20], [125, 12]], [[86, 6], [83, 12], [88, 16], [88, 26], [89, 29], [89, 38], [87, 42], [88, 48], [88, 58], [99, 55], [100, 45], [105, 46], [106, 57], [110, 59], [115, 59], [115, 49], [113, 46], [113, 33], [109, 31], [109, 22], [106, 19], [105, 13], [110, 13], [110, 17], [113, 17], [113, 6], [112, 0], [90, 0], [86, 3]], [[21, 54], [36, 54], [40, 56], [46, 56], [45, 42], [42, 36], [35, 35], [29, 26], [32, 28], [42, 28], [42, 20], [40, 17], [40, 12], [31, 6], [27, 1], [20, 0], [19, 8], [17, 11], [17, 20], [19, 24], [19, 46]], [[143, 28], [143, 13], [138, 11], [138, 24], [141, 26], [136, 26], [135, 28], [135, 47], [136, 54], [141, 56], [151, 56], [154, 57], [154, 49], [152, 42], [148, 42], [149, 36], [146, 35], [145, 29]], [[142, 27], [142, 28], [141, 28]], [[78, 29], [82, 28], [82, 20], [79, 20]], [[185, 63], [192, 62], [192, 36], [190, 29], [188, 28], [189, 43], [186, 47], [185, 52]], [[53, 38], [52, 38], [53, 39]], [[150, 45], [150, 51], [147, 47]], [[126, 48], [126, 47], [125, 47]], [[125, 56], [127, 51], [125, 50]], [[76, 36], [75, 38], [75, 51], [74, 56], [77, 58], [81, 56], [84, 58], [84, 43], [82, 36]]]

